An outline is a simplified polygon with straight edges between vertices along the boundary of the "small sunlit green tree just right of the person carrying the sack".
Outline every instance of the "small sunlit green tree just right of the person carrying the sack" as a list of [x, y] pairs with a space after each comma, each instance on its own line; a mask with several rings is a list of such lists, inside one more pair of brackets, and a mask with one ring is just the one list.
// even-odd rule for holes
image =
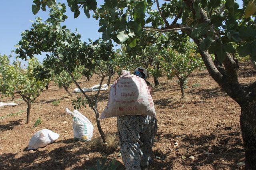
[[184, 88], [188, 81], [188, 77], [195, 69], [204, 69], [204, 62], [197, 53], [196, 44], [187, 42], [185, 53], [179, 53], [173, 49], [166, 49], [164, 55], [164, 70], [167, 77], [172, 79], [174, 76], [178, 78], [180, 84], [181, 97], [185, 97]]

